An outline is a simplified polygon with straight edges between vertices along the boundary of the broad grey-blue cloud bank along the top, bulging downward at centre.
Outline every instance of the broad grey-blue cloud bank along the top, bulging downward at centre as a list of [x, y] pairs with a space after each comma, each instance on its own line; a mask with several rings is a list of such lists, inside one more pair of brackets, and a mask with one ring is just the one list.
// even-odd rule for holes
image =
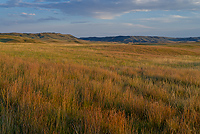
[[200, 10], [199, 0], [8, 0], [0, 7], [29, 7], [60, 10], [68, 15], [113, 19], [129, 12], [152, 10]]

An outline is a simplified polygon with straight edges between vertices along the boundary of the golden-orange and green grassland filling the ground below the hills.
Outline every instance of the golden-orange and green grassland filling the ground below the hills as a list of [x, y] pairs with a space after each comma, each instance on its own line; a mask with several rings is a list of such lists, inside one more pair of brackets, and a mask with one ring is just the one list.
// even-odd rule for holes
[[0, 43], [0, 133], [200, 133], [200, 43]]

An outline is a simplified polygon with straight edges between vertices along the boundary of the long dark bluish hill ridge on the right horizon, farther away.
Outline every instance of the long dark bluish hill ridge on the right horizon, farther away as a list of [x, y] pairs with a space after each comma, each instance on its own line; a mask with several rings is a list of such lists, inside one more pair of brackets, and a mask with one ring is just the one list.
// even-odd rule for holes
[[168, 42], [200, 42], [200, 37], [170, 38], [158, 36], [113, 36], [80, 38], [88, 41], [121, 42], [121, 43], [168, 43]]

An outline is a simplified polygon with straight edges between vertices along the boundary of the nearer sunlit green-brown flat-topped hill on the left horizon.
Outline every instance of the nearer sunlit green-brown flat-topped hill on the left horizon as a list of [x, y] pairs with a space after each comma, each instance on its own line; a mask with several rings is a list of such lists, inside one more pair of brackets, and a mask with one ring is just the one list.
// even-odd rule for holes
[[81, 43], [82, 40], [69, 35], [60, 33], [0, 33], [0, 42], [75, 42]]

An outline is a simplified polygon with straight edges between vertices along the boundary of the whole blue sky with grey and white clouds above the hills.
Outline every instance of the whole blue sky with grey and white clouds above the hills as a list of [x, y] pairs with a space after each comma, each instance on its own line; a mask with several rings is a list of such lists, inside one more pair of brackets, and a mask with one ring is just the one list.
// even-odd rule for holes
[[200, 0], [1, 0], [0, 33], [200, 37]]

